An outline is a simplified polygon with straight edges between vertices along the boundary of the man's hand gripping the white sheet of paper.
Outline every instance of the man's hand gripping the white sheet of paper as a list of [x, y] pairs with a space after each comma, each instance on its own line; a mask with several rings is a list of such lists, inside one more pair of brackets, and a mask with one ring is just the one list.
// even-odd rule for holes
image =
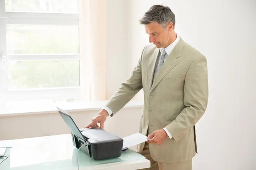
[[156, 130], [150, 135], [148, 135], [147, 139], [149, 140], [146, 142], [161, 145], [167, 138], [166, 136], [167, 136], [167, 133], [164, 129]]

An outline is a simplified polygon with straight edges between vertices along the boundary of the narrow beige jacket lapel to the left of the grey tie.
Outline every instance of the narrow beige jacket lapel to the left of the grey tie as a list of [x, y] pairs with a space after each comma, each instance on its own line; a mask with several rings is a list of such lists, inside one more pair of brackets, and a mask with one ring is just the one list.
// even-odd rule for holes
[[160, 48], [156, 48], [154, 50], [153, 54], [151, 55], [151, 57], [149, 58], [149, 62], [148, 62], [148, 86], [149, 86], [149, 89], [152, 86], [154, 68], [156, 65], [157, 56], [158, 56], [159, 52], [160, 52]]

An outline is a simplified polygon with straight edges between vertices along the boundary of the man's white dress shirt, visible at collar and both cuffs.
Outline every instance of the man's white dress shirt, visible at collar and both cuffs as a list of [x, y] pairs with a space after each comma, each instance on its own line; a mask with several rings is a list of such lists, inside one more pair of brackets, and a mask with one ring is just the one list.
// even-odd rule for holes
[[[171, 54], [173, 48], [175, 47], [175, 45], [178, 43], [179, 40], [180, 40], [180, 37], [177, 35], [176, 40], [175, 40], [174, 42], [172, 42], [172, 44], [170, 44], [169, 46], [167, 46], [166, 48], [164, 48], [165, 51], [166, 51], [166, 55], [164, 56], [164, 62], [166, 61], [166, 58]], [[160, 51], [161, 51], [162, 49], [163, 49], [163, 48], [160, 48]], [[156, 65], [158, 64], [159, 56], [160, 56], [160, 54], [157, 56]], [[164, 62], [163, 62], [163, 63], [164, 63]], [[106, 111], [108, 112], [108, 115], [107, 115], [107, 116], [109, 116], [109, 115], [111, 115], [111, 114], [113, 113], [113, 112], [111, 111], [111, 109], [108, 108], [108, 107], [106, 107], [106, 106], [103, 106], [102, 109], [104, 109], [104, 110], [106, 110]], [[163, 129], [166, 131], [167, 135], [168, 135], [169, 138], [171, 139], [171, 138], [172, 138], [172, 135], [169, 133], [169, 131], [168, 131], [165, 127], [164, 127]]]

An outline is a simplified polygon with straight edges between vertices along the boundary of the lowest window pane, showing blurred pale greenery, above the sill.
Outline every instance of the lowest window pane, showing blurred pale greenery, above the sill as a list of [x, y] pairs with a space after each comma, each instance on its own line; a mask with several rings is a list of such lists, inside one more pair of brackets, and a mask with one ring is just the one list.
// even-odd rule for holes
[[9, 90], [79, 86], [79, 61], [9, 61]]

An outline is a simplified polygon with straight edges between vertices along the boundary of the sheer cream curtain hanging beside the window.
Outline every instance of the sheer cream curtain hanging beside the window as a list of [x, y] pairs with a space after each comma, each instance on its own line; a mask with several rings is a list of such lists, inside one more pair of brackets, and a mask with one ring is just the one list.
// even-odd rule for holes
[[106, 100], [106, 0], [79, 0], [81, 100]]

